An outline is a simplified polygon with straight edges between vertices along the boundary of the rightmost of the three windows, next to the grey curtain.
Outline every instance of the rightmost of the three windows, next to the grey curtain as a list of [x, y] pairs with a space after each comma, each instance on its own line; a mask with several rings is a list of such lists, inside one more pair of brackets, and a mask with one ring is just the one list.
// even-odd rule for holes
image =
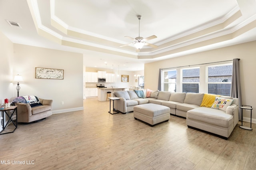
[[232, 64], [208, 66], [208, 93], [230, 96], [232, 69]]

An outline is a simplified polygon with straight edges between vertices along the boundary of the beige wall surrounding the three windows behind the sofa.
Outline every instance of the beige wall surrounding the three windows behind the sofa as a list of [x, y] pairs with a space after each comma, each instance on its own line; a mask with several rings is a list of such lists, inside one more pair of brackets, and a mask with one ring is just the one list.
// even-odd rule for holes
[[[166, 59], [153, 63], [147, 63], [144, 67], [145, 73], [145, 88], [158, 88], [158, 73], [159, 69], [180, 67], [184, 65], [195, 65], [201, 63], [210, 63], [218, 61], [232, 60], [240, 58], [240, 77], [242, 88], [242, 104], [252, 106], [252, 118], [256, 122], [256, 79], [254, 78], [254, 70], [256, 64], [256, 41], [232, 45], [182, 57]], [[202, 90], [202, 89], [200, 89]], [[203, 90], [202, 93], [205, 93]], [[250, 117], [249, 112], [244, 111], [244, 117]]]

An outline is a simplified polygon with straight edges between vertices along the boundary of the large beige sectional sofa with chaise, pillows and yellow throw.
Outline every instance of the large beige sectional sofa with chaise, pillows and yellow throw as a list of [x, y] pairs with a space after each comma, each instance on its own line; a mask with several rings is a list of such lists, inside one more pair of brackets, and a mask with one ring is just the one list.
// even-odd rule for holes
[[[140, 92], [140, 93], [139, 93]], [[169, 91], [117, 91], [114, 97], [115, 108], [125, 114], [133, 107], [154, 103], [170, 107], [170, 114], [186, 118], [190, 128], [228, 138], [238, 123], [238, 99], [229, 96], [217, 96], [206, 93], [171, 93]], [[147, 94], [147, 95], [146, 95]]]

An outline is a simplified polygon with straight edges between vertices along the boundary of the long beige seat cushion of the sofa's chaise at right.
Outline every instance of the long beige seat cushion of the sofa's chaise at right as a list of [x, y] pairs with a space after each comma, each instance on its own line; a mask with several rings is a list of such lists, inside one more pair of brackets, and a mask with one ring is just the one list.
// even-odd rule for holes
[[209, 123], [221, 127], [230, 127], [233, 124], [233, 116], [219, 109], [198, 107], [187, 112], [187, 117], [196, 121]]

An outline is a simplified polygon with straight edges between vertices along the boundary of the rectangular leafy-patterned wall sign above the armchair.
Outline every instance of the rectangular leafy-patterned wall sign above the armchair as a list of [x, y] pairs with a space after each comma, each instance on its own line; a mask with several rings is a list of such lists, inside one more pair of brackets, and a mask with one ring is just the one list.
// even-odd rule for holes
[[36, 67], [36, 79], [64, 79], [64, 70]]

